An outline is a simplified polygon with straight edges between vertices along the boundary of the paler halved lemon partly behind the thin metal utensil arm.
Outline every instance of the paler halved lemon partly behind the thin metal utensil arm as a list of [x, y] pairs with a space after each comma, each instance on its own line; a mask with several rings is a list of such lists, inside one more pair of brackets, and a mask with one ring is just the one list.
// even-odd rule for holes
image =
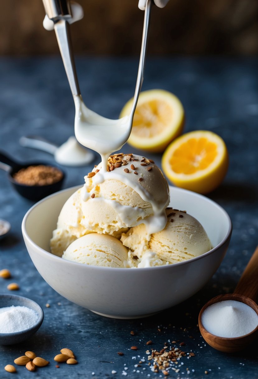
[[[120, 117], [131, 112], [133, 99], [124, 105]], [[184, 110], [171, 92], [151, 89], [140, 93], [128, 143], [137, 149], [163, 152], [182, 133]]]

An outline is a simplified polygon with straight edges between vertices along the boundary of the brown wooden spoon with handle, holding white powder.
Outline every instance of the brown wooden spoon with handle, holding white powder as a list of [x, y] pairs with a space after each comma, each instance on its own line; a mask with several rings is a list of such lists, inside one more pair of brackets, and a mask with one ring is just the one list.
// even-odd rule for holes
[[214, 334], [208, 332], [202, 324], [202, 314], [204, 310], [210, 305], [221, 302], [224, 300], [235, 300], [240, 301], [244, 304], [249, 305], [253, 310], [255, 310], [258, 315], [258, 305], [256, 304], [256, 299], [258, 296], [258, 246], [253, 253], [244, 273], [242, 274], [238, 285], [234, 293], [228, 293], [225, 295], [219, 295], [208, 301], [200, 310], [198, 324], [202, 337], [205, 341], [212, 346], [214, 349], [223, 352], [235, 352], [244, 349], [251, 341], [258, 337], [258, 326], [252, 330], [249, 334], [243, 335], [241, 337], [227, 338], [218, 337]]

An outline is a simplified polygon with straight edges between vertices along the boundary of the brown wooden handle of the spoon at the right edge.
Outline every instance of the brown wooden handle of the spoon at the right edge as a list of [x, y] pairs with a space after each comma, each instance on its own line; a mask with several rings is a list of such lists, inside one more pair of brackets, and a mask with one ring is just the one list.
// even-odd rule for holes
[[258, 246], [244, 270], [234, 293], [256, 301], [258, 296]]

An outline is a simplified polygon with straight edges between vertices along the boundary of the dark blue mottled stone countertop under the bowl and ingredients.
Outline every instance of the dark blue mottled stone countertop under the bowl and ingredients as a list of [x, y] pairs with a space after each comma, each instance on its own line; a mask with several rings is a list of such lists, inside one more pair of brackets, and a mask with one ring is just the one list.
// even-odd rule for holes
[[[103, 116], [117, 118], [134, 94], [137, 60], [81, 57], [76, 64], [85, 103]], [[6, 172], [0, 171], [0, 218], [12, 226], [0, 241], [0, 269], [8, 268], [12, 279], [0, 278], [0, 293], [10, 293], [7, 284], [17, 282], [20, 289], [13, 293], [38, 302], [45, 313], [42, 326], [30, 340], [0, 346], [1, 379], [11, 376], [4, 366], [26, 350], [35, 351], [50, 364], [34, 373], [16, 366], [16, 378], [164, 377], [153, 373], [146, 361], [135, 366], [143, 357], [146, 360], [148, 340], [153, 341], [149, 347], [157, 349], [162, 349], [165, 341], [169, 345], [175, 340], [176, 346], [184, 342], [184, 351], [195, 353], [179, 361], [178, 373], [170, 370], [171, 378], [258, 377], [257, 341], [238, 354], [225, 354], [207, 345], [197, 327], [202, 305], [213, 296], [233, 292], [258, 243], [257, 67], [257, 58], [147, 59], [143, 89], [162, 88], [179, 97], [186, 114], [184, 132], [212, 130], [225, 140], [229, 170], [208, 197], [224, 207], [233, 222], [230, 246], [212, 279], [192, 298], [157, 315], [135, 320], [105, 318], [56, 293], [37, 272], [23, 242], [21, 222], [33, 202], [14, 192]], [[75, 110], [61, 58], [1, 58], [0, 72], [0, 149], [17, 161], [54, 163], [48, 153], [21, 147], [19, 138], [36, 134], [62, 144], [73, 135]], [[125, 147], [125, 151], [132, 148]], [[160, 165], [161, 155], [148, 157]], [[93, 163], [98, 161], [96, 155]], [[91, 167], [65, 167], [64, 188], [82, 184]], [[160, 291], [173, 291], [166, 283], [153, 285], [159, 285]], [[138, 350], [130, 350], [132, 345]], [[63, 347], [75, 352], [78, 365], [60, 363], [56, 368], [53, 357]], [[123, 356], [117, 354], [120, 351]]]

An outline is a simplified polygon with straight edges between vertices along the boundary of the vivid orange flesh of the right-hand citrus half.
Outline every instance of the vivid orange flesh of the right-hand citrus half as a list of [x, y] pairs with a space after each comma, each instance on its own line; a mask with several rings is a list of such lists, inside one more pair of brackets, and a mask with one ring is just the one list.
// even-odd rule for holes
[[169, 163], [177, 174], [190, 175], [206, 169], [217, 154], [217, 145], [207, 138], [190, 138], [174, 151]]

